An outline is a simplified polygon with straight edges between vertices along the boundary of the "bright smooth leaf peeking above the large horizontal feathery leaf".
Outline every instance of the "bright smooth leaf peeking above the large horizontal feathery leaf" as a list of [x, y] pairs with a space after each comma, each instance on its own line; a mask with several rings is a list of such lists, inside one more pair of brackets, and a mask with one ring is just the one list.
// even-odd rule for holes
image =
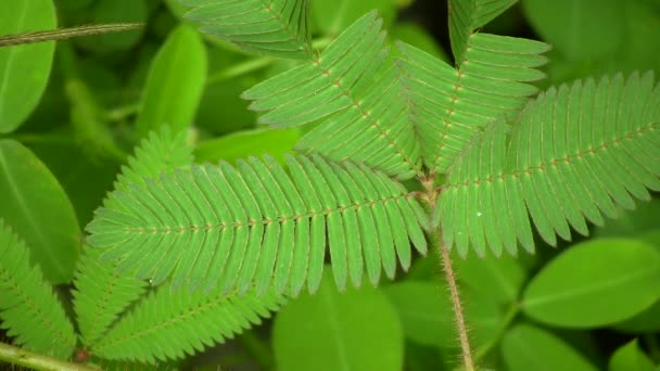
[[284, 153], [292, 152], [300, 139], [300, 129], [253, 129], [237, 131], [220, 138], [201, 142], [194, 150], [198, 162], [236, 162], [241, 157], [271, 155], [284, 163]]

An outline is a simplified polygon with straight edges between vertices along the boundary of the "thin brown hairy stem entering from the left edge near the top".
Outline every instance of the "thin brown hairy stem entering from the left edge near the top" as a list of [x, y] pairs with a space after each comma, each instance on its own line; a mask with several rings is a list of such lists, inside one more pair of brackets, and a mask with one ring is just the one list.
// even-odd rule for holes
[[64, 40], [73, 37], [90, 36], [99, 34], [120, 33], [142, 27], [140, 23], [117, 23], [109, 25], [90, 25], [71, 28], [42, 30], [29, 34], [0, 36], [0, 48], [12, 47], [23, 43], [41, 41]]

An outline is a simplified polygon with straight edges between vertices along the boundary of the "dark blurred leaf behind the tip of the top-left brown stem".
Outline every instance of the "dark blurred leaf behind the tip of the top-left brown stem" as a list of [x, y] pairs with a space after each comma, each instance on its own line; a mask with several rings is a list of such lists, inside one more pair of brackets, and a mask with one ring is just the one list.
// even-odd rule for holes
[[[91, 12], [91, 24], [145, 23], [145, 0], [97, 0]], [[96, 35], [76, 39], [82, 48], [97, 53], [127, 50], [140, 41], [143, 28], [126, 33]]]

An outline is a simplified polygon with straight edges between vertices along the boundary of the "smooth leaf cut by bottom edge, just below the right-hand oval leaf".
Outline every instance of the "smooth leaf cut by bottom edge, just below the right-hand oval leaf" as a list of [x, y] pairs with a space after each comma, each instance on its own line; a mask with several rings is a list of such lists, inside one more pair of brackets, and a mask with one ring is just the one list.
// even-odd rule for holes
[[553, 333], [532, 324], [507, 331], [502, 354], [509, 371], [596, 371], [578, 350]]

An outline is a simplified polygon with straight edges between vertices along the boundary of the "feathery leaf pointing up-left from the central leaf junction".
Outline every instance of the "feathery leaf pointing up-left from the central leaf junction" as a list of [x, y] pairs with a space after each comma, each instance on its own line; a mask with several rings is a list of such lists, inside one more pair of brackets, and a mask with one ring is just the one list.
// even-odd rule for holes
[[278, 128], [319, 120], [296, 145], [334, 161], [351, 159], [398, 179], [421, 172], [420, 148], [407, 119], [397, 71], [386, 67], [382, 20], [371, 12], [307, 64], [243, 93], [259, 120]]

